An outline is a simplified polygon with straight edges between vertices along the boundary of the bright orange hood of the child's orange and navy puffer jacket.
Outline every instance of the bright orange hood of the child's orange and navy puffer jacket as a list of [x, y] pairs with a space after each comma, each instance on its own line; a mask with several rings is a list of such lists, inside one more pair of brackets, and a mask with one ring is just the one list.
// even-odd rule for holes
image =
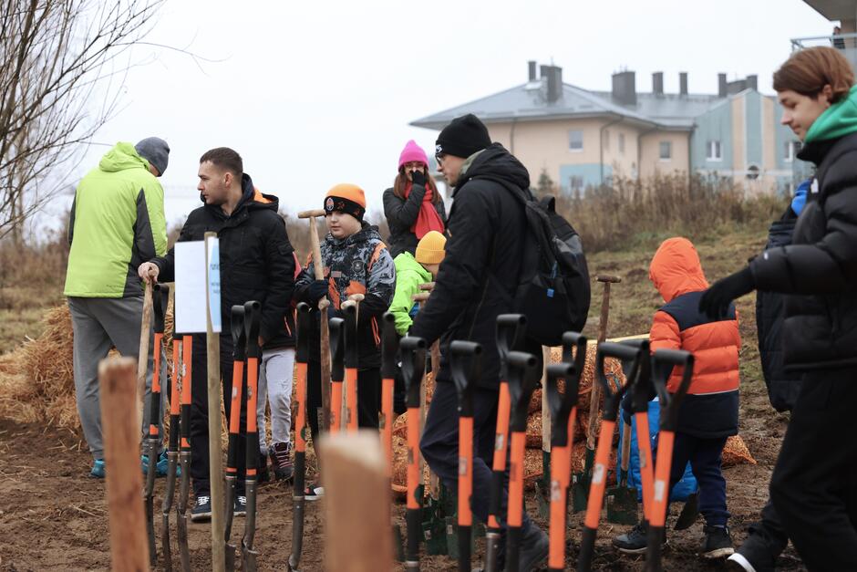
[[668, 238], [658, 247], [649, 265], [649, 280], [665, 302], [708, 287], [697, 249], [681, 237]]

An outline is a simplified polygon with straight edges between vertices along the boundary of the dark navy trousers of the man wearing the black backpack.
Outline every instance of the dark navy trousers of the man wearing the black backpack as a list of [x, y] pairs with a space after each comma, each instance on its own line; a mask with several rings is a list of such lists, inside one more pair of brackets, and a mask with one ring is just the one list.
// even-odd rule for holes
[[[473, 493], [470, 504], [473, 515], [482, 523], [488, 520], [491, 488], [491, 463], [494, 458], [494, 433], [497, 431], [497, 403], [500, 393], [478, 388], [473, 395]], [[426, 463], [443, 484], [452, 492], [458, 492], [459, 478], [459, 413], [458, 394], [449, 381], [439, 381], [431, 398], [426, 426], [423, 429], [419, 449]], [[509, 463], [506, 463], [506, 479], [503, 485], [501, 504], [501, 527], [506, 529], [507, 499], [509, 495]], [[521, 530], [524, 534], [531, 522], [526, 511]]]

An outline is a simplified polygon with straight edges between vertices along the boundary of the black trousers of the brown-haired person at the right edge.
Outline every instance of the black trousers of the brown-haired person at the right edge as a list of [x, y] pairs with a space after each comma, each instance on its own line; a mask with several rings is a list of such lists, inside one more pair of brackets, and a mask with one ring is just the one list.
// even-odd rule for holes
[[807, 372], [770, 498], [810, 570], [857, 570], [857, 368]]

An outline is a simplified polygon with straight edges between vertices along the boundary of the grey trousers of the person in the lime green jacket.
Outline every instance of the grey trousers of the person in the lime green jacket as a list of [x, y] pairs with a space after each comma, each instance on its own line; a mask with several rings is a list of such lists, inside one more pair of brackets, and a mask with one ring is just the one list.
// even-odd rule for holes
[[[108, 356], [110, 348], [117, 348], [122, 356], [137, 358], [139, 328], [142, 324], [143, 297], [84, 298], [68, 297], [68, 309], [74, 329], [74, 372], [77, 413], [94, 459], [104, 458], [101, 436], [101, 400], [98, 393], [98, 362]], [[146, 405], [142, 415], [142, 435], [149, 433], [151, 395], [152, 338], [149, 341], [149, 366], [146, 376]], [[161, 352], [161, 386], [167, 387], [166, 359]], [[166, 390], [161, 392], [161, 408]], [[158, 426], [163, 435], [163, 415]]]

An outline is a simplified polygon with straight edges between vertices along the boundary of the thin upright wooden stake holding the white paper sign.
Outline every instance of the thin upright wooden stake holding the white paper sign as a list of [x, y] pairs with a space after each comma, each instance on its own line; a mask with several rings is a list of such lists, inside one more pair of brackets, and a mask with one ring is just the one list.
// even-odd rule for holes
[[[224, 514], [223, 514], [223, 451], [221, 444], [221, 342], [220, 334], [214, 332], [212, 326], [212, 309], [220, 312], [221, 308], [212, 308], [209, 288], [209, 249], [210, 238], [216, 238], [217, 233], [205, 233], [205, 322], [206, 322], [206, 365], [208, 369], [208, 449], [209, 449], [209, 483], [212, 486], [212, 570], [223, 572], [226, 568], [226, 552], [223, 546]], [[229, 507], [232, 510], [232, 506]]]

